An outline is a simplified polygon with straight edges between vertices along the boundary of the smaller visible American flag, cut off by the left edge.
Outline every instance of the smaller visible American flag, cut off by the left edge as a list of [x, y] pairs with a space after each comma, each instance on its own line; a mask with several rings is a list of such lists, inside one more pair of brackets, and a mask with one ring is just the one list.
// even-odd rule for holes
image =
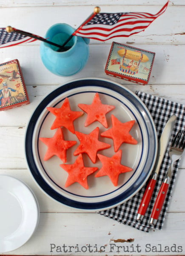
[[16, 32], [6, 32], [6, 28], [0, 28], [0, 48], [9, 47], [17, 44], [34, 42], [37, 39]]

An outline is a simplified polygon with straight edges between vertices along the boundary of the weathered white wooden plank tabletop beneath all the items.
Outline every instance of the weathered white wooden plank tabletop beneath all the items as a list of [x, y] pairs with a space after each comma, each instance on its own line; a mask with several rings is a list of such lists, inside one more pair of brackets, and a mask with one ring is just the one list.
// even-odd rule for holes
[[[44, 37], [48, 27], [54, 23], [68, 23], [77, 28], [93, 12], [94, 6], [100, 6], [102, 12], [155, 14], [164, 4], [165, 0], [111, 0], [109, 3], [104, 0], [0, 0], [0, 27], [10, 25]], [[181, 160], [165, 226], [161, 231], [151, 230], [149, 233], [119, 224], [96, 212], [80, 212], [63, 206], [43, 193], [26, 167], [24, 135], [28, 119], [43, 97], [65, 82], [86, 77], [104, 78], [116, 81], [133, 92], [142, 90], [185, 104], [184, 0], [171, 1], [166, 12], [145, 32], [129, 38], [114, 38], [116, 42], [156, 52], [148, 85], [137, 85], [105, 75], [112, 41], [101, 43], [91, 40], [88, 63], [80, 73], [70, 77], [55, 76], [46, 70], [40, 59], [39, 41], [0, 49], [0, 63], [15, 58], [20, 61], [31, 101], [30, 105], [0, 112], [0, 175], [11, 175], [25, 182], [33, 190], [40, 206], [40, 221], [34, 235], [22, 247], [6, 254], [185, 254], [185, 155]], [[116, 243], [117, 239], [134, 241]], [[115, 244], [114, 248], [111, 244]]]

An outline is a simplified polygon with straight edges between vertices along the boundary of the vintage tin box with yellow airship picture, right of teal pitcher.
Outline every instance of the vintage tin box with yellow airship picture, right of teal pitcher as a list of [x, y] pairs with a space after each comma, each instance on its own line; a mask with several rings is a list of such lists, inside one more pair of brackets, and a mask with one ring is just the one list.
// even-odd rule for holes
[[155, 53], [113, 42], [105, 73], [137, 84], [148, 84]]

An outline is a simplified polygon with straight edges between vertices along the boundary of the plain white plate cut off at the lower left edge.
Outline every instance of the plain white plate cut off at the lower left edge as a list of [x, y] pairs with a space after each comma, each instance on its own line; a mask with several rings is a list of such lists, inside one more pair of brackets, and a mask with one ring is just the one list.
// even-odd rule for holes
[[22, 181], [0, 175], [0, 253], [25, 244], [39, 220], [39, 207], [33, 192]]

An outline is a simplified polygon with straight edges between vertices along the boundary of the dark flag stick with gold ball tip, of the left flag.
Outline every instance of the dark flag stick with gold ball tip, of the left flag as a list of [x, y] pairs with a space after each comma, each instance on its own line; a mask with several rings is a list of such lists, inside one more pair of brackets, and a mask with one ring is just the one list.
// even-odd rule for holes
[[23, 30], [19, 30], [19, 29], [12, 28], [11, 26], [7, 26], [7, 27], [6, 27], [6, 31], [9, 32], [9, 33], [10, 33], [10, 32], [16, 32], [16, 33], [19, 33], [19, 34], [22, 34], [22, 35], [29, 36], [29, 37], [31, 37], [31, 38], [35, 38], [35, 39], [40, 40], [40, 41], [43, 41], [43, 42], [45, 42], [45, 43], [47, 43], [47, 44], [51, 44], [51, 45], [53, 45], [53, 46], [56, 46], [56, 47], [60, 48], [60, 50], [63, 50], [63, 51], [66, 51], [66, 50], [67, 50], [65, 47], [63, 47], [63, 46], [61, 46], [61, 45], [59, 45], [59, 44], [55, 44], [55, 43], [53, 43], [53, 42], [51, 42], [51, 41], [48, 41], [47, 39], [42, 38], [42, 37], [40, 37], [40, 36], [38, 36], [38, 35], [34, 35], [34, 34], [31, 34], [31, 33], [25, 32], [25, 31], [23, 31]]

